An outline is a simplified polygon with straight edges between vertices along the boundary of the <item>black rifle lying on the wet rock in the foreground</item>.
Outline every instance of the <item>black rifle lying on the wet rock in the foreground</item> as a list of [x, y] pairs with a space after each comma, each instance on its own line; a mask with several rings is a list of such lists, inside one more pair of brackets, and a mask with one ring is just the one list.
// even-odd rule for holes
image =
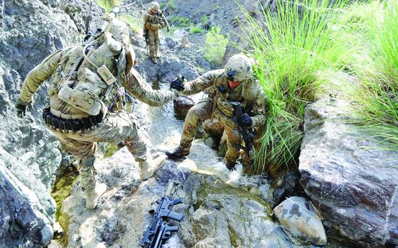
[[181, 213], [172, 210], [174, 205], [183, 203], [181, 198], [176, 200], [171, 199], [170, 195], [171, 190], [173, 190], [173, 186], [174, 183], [169, 181], [164, 196], [161, 199], [156, 200], [158, 207], [156, 207], [156, 211], [152, 210], [154, 213], [154, 220], [152, 220], [144, 233], [144, 237], [140, 242], [141, 247], [161, 248], [163, 242], [171, 237], [171, 232], [178, 231], [178, 226], [169, 226], [166, 222], [167, 218], [178, 222], [183, 220], [183, 215]]

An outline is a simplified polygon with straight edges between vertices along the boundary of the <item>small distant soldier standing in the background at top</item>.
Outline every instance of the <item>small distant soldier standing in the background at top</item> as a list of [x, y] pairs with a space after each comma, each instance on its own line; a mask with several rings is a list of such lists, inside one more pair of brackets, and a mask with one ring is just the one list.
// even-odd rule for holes
[[146, 14], [144, 14], [144, 37], [146, 45], [149, 47], [149, 57], [152, 62], [157, 64], [156, 58], [160, 58], [159, 53], [159, 30], [167, 28], [170, 31], [168, 21], [159, 11], [160, 6], [157, 1], [153, 1]]

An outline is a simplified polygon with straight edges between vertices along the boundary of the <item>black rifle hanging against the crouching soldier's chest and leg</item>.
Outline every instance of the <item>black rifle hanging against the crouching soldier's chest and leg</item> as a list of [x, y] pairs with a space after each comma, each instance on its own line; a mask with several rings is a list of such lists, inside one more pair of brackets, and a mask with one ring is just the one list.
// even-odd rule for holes
[[236, 116], [233, 117], [232, 119], [238, 126], [238, 130], [240, 135], [243, 138], [244, 141], [244, 147], [241, 146], [241, 149], [244, 149], [244, 152], [247, 154], [249, 158], [253, 157], [252, 151], [254, 150], [253, 142], [254, 142], [254, 130], [250, 127], [247, 126], [240, 126], [237, 122], [237, 119], [244, 114], [244, 108], [240, 104], [240, 102], [230, 102], [232, 107], [234, 108]]

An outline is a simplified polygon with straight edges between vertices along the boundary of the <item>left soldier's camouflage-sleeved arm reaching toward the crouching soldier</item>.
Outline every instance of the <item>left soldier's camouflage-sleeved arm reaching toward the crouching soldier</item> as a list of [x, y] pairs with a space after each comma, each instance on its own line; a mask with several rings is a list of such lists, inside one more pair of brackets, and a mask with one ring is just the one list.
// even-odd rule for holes
[[153, 90], [134, 68], [122, 78], [122, 84], [131, 95], [154, 107], [159, 107], [181, 95], [178, 90]]

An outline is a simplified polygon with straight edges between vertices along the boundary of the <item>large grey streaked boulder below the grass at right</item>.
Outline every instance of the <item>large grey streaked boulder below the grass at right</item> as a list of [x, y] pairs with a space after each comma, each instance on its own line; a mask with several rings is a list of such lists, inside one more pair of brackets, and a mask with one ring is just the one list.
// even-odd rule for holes
[[398, 244], [398, 153], [348, 124], [350, 107], [323, 99], [306, 108], [301, 185], [343, 236], [364, 247]]

